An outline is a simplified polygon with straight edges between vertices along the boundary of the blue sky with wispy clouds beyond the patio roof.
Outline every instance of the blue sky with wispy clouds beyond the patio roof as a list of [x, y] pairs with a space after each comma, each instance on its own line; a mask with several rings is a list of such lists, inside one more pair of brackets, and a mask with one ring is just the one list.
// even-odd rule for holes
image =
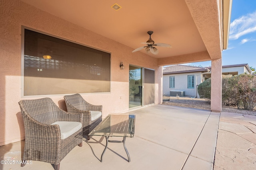
[[[248, 64], [256, 68], [256, 0], [233, 0], [228, 48], [222, 51], [222, 65]], [[211, 61], [187, 63], [210, 66]]]

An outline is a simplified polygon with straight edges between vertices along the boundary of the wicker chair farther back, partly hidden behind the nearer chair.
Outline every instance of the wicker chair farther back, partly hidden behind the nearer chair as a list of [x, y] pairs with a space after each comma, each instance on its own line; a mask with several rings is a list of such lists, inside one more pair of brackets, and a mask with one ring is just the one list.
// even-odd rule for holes
[[64, 96], [69, 113], [83, 113], [83, 134], [87, 135], [102, 121], [102, 106], [86, 102], [80, 94]]

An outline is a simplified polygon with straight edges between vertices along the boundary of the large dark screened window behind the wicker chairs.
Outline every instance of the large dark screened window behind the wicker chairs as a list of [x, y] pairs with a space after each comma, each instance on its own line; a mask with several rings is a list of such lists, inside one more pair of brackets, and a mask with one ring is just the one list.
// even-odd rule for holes
[[24, 96], [110, 92], [110, 53], [24, 30]]

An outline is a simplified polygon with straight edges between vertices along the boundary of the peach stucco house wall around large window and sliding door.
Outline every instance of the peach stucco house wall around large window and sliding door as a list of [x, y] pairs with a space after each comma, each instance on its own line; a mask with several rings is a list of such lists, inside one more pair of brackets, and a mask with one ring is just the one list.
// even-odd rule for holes
[[[129, 64], [155, 70], [155, 104], [161, 103], [162, 95], [159, 94], [162, 94], [162, 66], [157, 66], [157, 59], [140, 52], [131, 53], [133, 49], [130, 47], [19, 0], [3, 0], [0, 9], [0, 145], [24, 139], [24, 125], [18, 102], [41, 98], [21, 98], [22, 25], [111, 53], [111, 92], [82, 94], [88, 102], [103, 106], [103, 117], [109, 113], [129, 110]], [[120, 62], [123, 62], [124, 70], [120, 70]], [[64, 108], [63, 96], [47, 97]]]

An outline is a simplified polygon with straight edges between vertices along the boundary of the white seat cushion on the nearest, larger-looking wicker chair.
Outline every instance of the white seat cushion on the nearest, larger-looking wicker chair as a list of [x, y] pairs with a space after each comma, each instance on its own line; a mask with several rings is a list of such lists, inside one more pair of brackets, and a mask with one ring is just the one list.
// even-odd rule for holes
[[82, 123], [77, 121], [56, 121], [52, 125], [60, 126], [61, 139], [66, 139], [82, 128]]

